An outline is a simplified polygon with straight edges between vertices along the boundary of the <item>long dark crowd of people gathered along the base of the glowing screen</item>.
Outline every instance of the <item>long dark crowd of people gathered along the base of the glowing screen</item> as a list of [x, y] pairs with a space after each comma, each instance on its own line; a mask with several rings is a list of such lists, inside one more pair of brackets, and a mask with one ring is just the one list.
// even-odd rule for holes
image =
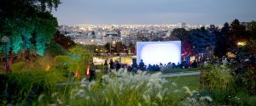
[[[104, 63], [104, 73], [108, 74], [108, 72], [111, 72], [113, 70], [118, 71], [119, 69], [125, 69], [128, 72], [137, 72], [137, 70], [143, 70], [143, 71], [163, 71], [163, 70], [174, 70], [174, 69], [188, 69], [188, 68], [197, 68], [200, 65], [207, 65], [207, 64], [236, 64], [236, 63], [241, 63], [241, 61], [245, 64], [250, 64], [250, 65], [255, 65], [256, 64], [256, 56], [255, 55], [250, 55], [247, 56], [246, 58], [244, 58], [243, 60], [239, 60], [239, 59], [227, 59], [227, 58], [223, 58], [223, 59], [216, 59], [214, 61], [209, 61], [209, 60], [205, 60], [205, 61], [201, 61], [201, 62], [196, 62], [195, 60], [191, 63], [190, 60], [188, 58], [183, 59], [183, 61], [181, 63], [172, 63], [169, 62], [168, 64], [148, 64], [145, 65], [143, 63], [143, 59], [140, 61], [139, 64], [137, 64], [136, 62], [134, 62], [131, 65], [126, 65], [126, 64], [121, 64], [119, 63], [119, 61], [113, 61], [113, 59], [110, 59], [109, 63], [108, 60], [105, 60]], [[256, 65], [255, 65], [256, 66]], [[92, 79], [95, 79], [96, 76], [96, 68], [95, 65], [92, 64], [90, 67], [90, 81]]]

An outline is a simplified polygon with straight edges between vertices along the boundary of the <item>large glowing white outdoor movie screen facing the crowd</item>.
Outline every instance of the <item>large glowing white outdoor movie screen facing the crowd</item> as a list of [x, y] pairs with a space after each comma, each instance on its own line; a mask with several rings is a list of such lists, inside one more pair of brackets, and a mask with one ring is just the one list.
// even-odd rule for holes
[[137, 42], [137, 64], [177, 64], [181, 59], [181, 42]]

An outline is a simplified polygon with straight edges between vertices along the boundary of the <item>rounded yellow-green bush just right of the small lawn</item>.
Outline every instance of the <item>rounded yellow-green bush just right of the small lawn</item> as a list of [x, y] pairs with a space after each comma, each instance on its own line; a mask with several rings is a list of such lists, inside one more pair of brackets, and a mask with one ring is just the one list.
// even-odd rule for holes
[[207, 65], [201, 69], [200, 83], [203, 89], [230, 90], [235, 78], [225, 66]]

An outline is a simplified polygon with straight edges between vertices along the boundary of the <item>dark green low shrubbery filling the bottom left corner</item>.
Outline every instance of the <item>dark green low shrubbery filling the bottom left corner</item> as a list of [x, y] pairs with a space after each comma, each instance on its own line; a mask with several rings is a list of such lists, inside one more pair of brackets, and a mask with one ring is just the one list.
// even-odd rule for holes
[[55, 83], [65, 80], [57, 70], [14, 72], [0, 77], [3, 79], [0, 81], [0, 105], [7, 105], [4, 101], [14, 105], [38, 105], [40, 94], [51, 97], [57, 89]]

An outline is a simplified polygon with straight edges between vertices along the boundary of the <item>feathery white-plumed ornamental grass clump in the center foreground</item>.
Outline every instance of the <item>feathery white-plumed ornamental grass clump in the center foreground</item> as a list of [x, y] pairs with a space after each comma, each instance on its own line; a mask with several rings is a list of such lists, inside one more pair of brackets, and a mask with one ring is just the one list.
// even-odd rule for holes
[[[113, 71], [109, 75], [103, 75], [101, 81], [81, 84], [73, 88], [67, 104], [79, 106], [186, 105], [191, 104], [189, 100], [192, 99], [187, 92], [191, 92], [189, 88], [177, 88], [176, 84], [161, 79], [160, 73], [148, 75], [147, 72], [138, 71], [134, 74], [119, 70], [119, 72]], [[195, 105], [200, 103], [197, 100], [194, 102]]]

